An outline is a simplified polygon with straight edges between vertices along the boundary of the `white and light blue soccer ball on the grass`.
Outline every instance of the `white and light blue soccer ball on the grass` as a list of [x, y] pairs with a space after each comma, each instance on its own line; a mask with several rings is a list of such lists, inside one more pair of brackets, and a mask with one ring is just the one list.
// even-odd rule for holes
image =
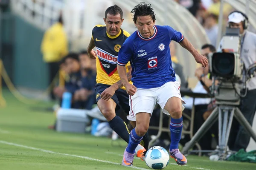
[[162, 170], [169, 164], [169, 160], [169, 153], [160, 146], [151, 147], [145, 155], [145, 163], [154, 170]]

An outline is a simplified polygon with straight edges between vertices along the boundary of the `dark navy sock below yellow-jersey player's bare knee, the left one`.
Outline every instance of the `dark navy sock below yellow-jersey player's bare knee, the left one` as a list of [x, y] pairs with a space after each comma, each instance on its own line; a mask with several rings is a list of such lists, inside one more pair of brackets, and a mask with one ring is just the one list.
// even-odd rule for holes
[[108, 124], [125, 142], [129, 143], [130, 133], [125, 121], [119, 116], [115, 116]]

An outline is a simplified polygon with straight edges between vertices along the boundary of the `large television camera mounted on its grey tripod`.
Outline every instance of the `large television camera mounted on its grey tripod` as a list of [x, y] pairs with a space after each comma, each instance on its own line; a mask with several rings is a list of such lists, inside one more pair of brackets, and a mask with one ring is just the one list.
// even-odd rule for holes
[[[185, 144], [184, 154], [188, 153], [189, 148], [195, 145], [196, 141], [209, 130], [217, 119], [219, 129], [217, 154], [220, 159], [225, 159], [230, 152], [227, 142], [234, 116], [256, 141], [256, 134], [238, 108], [241, 97], [244, 97], [247, 93], [246, 83], [250, 81], [250, 78], [256, 76], [256, 64], [251, 65], [247, 70], [244, 67], [240, 57], [239, 28], [228, 27], [220, 44], [218, 51], [208, 56], [209, 70], [212, 74], [211, 94], [215, 97], [217, 107], [192, 139]], [[217, 80], [218, 84], [215, 85]], [[206, 152], [209, 152], [209, 150]]]

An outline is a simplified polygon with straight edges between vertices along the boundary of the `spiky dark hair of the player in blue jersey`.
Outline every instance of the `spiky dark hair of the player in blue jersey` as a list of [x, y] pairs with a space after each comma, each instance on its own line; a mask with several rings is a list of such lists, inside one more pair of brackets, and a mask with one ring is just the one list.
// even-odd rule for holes
[[133, 20], [135, 23], [138, 16], [150, 15], [153, 21], [156, 20], [156, 14], [154, 13], [154, 9], [151, 7], [150, 3], [139, 3], [137, 6], [134, 6], [134, 8], [131, 10], [131, 13], [133, 14]]

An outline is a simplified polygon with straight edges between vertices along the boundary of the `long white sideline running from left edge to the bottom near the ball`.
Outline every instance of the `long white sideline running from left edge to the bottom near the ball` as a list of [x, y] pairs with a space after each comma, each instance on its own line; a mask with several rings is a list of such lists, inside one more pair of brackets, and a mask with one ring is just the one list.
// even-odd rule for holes
[[[40, 149], [40, 148], [36, 148], [36, 147], [30, 147], [30, 146], [25, 146], [25, 145], [22, 145], [22, 144], [15, 144], [15, 143], [6, 142], [6, 141], [0, 141], [0, 143], [13, 145], [13, 146], [17, 146], [17, 147], [23, 147], [23, 148], [27, 148], [27, 149], [31, 149], [31, 150], [39, 150], [39, 151], [45, 152], [45, 153], [54, 153], [54, 154], [58, 154], [58, 155], [66, 155], [66, 156], [73, 156], [73, 157], [83, 158], [83, 159], [87, 159], [87, 160], [90, 160], [90, 161], [99, 161], [99, 162], [104, 162], [104, 163], [108, 163], [108, 164], [121, 165], [121, 164], [116, 163], [116, 162], [94, 159], [94, 158], [90, 158], [90, 157], [87, 157], [87, 156], [71, 155], [71, 154], [67, 154], [67, 153], [58, 153], [58, 152], [53, 152], [51, 150], [44, 150], [44, 149]], [[134, 168], [134, 169], [137, 169], [137, 170], [148, 170], [148, 169], [141, 168], [141, 167], [131, 167], [131, 168]]]

